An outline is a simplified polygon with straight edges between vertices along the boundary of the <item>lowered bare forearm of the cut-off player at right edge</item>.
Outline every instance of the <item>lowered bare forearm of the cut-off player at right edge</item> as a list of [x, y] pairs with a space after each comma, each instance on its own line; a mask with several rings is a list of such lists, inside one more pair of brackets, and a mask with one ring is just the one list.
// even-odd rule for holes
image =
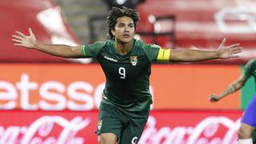
[[246, 78], [242, 74], [236, 81], [230, 84], [230, 86], [228, 86], [226, 90], [222, 92], [222, 94], [210, 94], [210, 102], [217, 102], [218, 100], [226, 97], [227, 95], [232, 94], [237, 90], [240, 90], [242, 86], [244, 86], [245, 82]]

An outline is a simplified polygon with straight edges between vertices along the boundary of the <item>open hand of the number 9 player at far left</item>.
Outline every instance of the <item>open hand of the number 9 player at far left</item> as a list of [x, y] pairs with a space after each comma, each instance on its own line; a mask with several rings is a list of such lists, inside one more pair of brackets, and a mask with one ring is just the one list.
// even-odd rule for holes
[[26, 48], [34, 48], [34, 44], [37, 42], [32, 30], [29, 28], [30, 35], [22, 34], [19, 31], [15, 31], [16, 34], [12, 35], [14, 46], [24, 46]]

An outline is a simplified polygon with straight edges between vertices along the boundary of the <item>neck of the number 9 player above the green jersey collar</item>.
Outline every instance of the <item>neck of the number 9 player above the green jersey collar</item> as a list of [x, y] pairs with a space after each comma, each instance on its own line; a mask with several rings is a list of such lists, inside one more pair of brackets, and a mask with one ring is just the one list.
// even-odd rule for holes
[[118, 53], [121, 55], [127, 54], [133, 46], [134, 40], [130, 42], [120, 42], [118, 40], [115, 41], [115, 49], [118, 50]]

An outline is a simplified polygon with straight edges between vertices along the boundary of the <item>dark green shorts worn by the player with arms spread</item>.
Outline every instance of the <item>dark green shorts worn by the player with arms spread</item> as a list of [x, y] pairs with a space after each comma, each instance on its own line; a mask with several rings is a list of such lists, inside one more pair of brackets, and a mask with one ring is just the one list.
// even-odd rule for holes
[[118, 143], [135, 144], [142, 135], [149, 113], [150, 107], [142, 111], [126, 111], [102, 102], [97, 134], [113, 133], [118, 137]]

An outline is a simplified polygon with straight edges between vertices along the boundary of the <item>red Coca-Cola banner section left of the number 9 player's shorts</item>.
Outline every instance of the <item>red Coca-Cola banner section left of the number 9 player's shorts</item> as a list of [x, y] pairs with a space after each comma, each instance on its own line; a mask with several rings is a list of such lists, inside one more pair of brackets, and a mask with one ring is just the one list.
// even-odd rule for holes
[[97, 111], [0, 111], [0, 143], [95, 143]]

